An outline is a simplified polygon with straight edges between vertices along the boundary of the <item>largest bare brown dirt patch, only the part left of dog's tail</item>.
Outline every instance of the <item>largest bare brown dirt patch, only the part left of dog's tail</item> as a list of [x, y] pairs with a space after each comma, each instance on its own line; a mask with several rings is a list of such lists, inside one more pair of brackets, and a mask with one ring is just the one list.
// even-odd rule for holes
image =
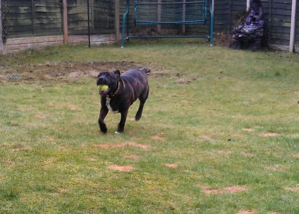
[[5, 66], [1, 69], [0, 79], [7, 81], [68, 81], [82, 76], [96, 77], [102, 70], [119, 69], [124, 72], [142, 67], [145, 66], [134, 61], [47, 62], [39, 65]]

